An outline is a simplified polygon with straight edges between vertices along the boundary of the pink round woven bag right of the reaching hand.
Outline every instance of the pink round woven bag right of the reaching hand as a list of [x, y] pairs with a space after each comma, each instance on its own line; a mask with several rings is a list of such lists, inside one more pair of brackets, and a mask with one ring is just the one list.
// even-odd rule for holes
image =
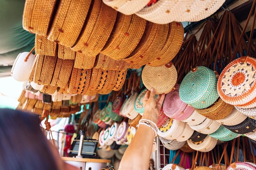
[[168, 117], [183, 121], [193, 113], [194, 108], [180, 99], [179, 89], [180, 84], [177, 84], [175, 90], [165, 96], [163, 108]]

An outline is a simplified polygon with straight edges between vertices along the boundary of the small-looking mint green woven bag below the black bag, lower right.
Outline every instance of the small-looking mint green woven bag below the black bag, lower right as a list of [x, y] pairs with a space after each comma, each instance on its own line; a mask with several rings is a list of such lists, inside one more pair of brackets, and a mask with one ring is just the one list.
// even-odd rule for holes
[[218, 139], [220, 141], [229, 141], [235, 139], [239, 134], [232, 132], [231, 130], [220, 126], [215, 132], [210, 134], [211, 137]]

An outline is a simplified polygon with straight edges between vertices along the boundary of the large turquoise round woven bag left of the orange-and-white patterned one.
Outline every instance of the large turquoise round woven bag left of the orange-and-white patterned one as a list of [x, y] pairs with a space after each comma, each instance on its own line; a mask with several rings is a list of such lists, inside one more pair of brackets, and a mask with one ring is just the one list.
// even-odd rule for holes
[[180, 99], [198, 109], [211, 106], [218, 98], [215, 73], [204, 66], [198, 66], [185, 76], [180, 84]]

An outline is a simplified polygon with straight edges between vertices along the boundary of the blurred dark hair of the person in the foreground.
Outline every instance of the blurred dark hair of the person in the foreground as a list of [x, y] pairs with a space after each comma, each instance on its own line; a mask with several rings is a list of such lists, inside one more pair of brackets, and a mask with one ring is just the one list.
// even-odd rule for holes
[[57, 170], [38, 115], [0, 109], [0, 170]]

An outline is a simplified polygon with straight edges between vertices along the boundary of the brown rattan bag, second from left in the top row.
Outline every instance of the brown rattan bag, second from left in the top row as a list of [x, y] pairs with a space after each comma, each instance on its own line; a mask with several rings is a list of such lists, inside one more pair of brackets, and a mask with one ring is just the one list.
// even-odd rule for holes
[[[84, 25], [91, 0], [61, 1], [54, 16], [48, 39], [72, 47]], [[74, 23], [74, 21], [76, 21]]]

